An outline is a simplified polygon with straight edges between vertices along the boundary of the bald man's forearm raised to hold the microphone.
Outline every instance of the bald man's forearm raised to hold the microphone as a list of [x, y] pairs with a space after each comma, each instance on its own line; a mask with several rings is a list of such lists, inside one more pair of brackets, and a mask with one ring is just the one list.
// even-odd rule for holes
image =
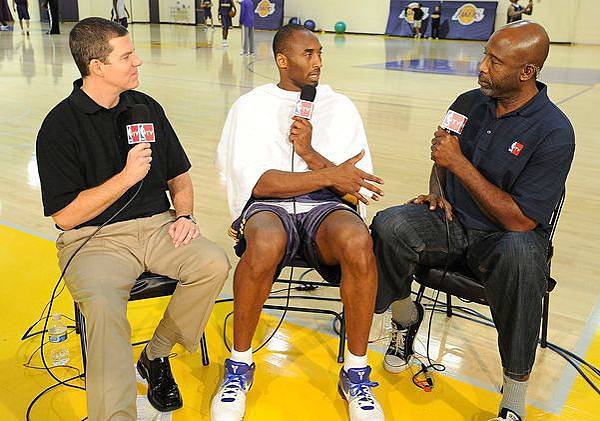
[[490, 183], [468, 160], [453, 172], [481, 211], [506, 230], [531, 231], [536, 227], [535, 221], [523, 214], [508, 193]]

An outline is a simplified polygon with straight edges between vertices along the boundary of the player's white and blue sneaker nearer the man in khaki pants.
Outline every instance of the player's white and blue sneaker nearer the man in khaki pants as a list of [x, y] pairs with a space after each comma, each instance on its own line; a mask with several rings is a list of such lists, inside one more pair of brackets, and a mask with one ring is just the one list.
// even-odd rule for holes
[[225, 360], [225, 375], [210, 408], [212, 421], [240, 421], [246, 412], [246, 393], [252, 387], [256, 365]]

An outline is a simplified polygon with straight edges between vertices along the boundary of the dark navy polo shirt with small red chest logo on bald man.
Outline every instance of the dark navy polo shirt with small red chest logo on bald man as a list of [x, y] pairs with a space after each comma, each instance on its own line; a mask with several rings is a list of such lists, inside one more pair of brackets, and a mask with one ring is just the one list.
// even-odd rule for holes
[[[523, 107], [496, 118], [496, 100], [479, 89], [450, 109], [468, 117], [460, 138], [465, 157], [492, 184], [510, 194], [523, 213], [546, 231], [575, 153], [569, 119], [548, 98], [546, 85]], [[467, 189], [447, 173], [448, 200], [466, 228], [503, 230], [479, 209]]]

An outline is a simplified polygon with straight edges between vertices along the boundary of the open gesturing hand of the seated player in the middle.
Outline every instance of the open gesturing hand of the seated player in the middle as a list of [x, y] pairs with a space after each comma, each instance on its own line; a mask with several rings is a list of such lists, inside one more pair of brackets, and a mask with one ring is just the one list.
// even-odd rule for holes
[[377, 184], [383, 184], [383, 180], [375, 175], [356, 168], [355, 164], [360, 161], [364, 155], [365, 151], [362, 150], [360, 153], [358, 153], [358, 155], [353, 156], [336, 167], [328, 168], [328, 170], [331, 172], [330, 180], [332, 188], [335, 191], [342, 195], [351, 194], [365, 205], [368, 205], [369, 201], [367, 198], [365, 198], [358, 191], [361, 187], [366, 188], [373, 193], [371, 198], [377, 201], [379, 200], [380, 196], [384, 195], [383, 190], [381, 190], [375, 184], [369, 183], [369, 181]]

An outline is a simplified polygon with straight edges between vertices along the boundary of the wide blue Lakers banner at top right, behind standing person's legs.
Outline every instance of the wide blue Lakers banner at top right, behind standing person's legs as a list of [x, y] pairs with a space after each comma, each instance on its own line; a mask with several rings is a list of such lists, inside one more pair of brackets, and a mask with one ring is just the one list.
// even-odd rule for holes
[[[416, 1], [390, 0], [390, 14], [386, 35], [412, 36], [412, 7]], [[495, 1], [421, 1], [423, 21], [421, 33], [431, 33], [431, 13], [435, 6], [442, 6], [440, 37], [449, 39], [487, 40], [494, 32], [496, 21]]]

